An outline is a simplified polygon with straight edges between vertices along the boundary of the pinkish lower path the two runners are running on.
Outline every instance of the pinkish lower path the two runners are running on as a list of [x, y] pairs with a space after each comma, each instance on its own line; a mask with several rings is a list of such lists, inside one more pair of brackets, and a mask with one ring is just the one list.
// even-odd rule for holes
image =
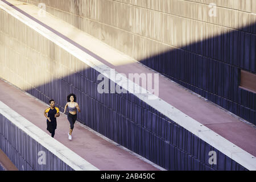
[[[0, 101], [49, 134], [46, 130], [46, 118], [43, 115], [46, 104], [1, 79]], [[100, 170], [156, 171], [160, 168], [144, 162], [78, 123], [75, 123], [72, 141], [68, 140], [68, 131], [67, 116], [61, 113], [57, 118], [54, 138]]]

